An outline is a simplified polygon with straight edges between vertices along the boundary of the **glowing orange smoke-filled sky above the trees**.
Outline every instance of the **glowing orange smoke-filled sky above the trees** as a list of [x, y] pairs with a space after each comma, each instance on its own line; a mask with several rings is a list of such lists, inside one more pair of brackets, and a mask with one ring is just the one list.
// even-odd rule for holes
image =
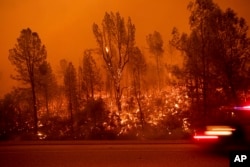
[[[75, 66], [88, 48], [95, 48], [93, 23], [101, 24], [105, 12], [117, 12], [136, 26], [136, 44], [146, 47], [146, 35], [159, 31], [167, 43], [173, 27], [188, 32], [190, 0], [0, 0], [0, 98], [15, 82], [10, 78], [14, 66], [9, 49], [20, 31], [37, 32], [47, 48], [54, 72], [63, 58]], [[214, 0], [223, 10], [230, 7], [250, 24], [249, 0]]]

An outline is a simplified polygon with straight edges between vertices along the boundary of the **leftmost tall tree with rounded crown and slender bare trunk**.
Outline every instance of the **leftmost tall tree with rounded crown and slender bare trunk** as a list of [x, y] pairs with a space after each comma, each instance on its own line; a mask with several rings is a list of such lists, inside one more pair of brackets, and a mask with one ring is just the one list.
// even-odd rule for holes
[[17, 72], [13, 79], [23, 81], [30, 86], [32, 91], [33, 112], [34, 112], [34, 132], [37, 133], [37, 98], [36, 98], [36, 76], [38, 68], [46, 60], [47, 52], [42, 44], [38, 33], [31, 29], [23, 29], [17, 44], [9, 51], [9, 60], [15, 66]]

